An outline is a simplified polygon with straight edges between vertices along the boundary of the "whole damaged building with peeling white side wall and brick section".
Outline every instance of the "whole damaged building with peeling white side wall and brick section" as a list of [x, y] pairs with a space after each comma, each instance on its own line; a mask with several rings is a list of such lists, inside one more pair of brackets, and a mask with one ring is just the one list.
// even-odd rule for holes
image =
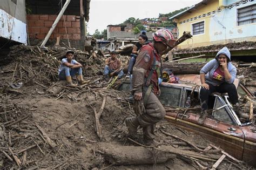
[[[57, 21], [62, 9], [63, 15]], [[52, 28], [46, 45], [57, 43], [84, 50], [89, 10], [90, 0], [3, 1], [0, 4], [1, 49], [8, 53], [8, 47], [14, 44], [40, 45]]]

